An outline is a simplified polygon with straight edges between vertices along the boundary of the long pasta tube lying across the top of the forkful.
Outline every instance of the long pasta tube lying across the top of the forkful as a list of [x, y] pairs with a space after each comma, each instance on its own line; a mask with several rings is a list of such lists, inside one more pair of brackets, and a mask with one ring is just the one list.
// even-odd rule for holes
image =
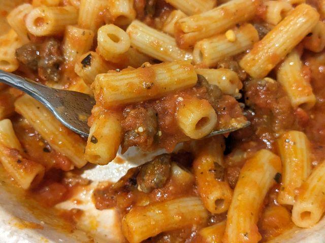
[[91, 89], [96, 102], [110, 107], [159, 98], [193, 87], [197, 80], [194, 67], [178, 61], [99, 74]]

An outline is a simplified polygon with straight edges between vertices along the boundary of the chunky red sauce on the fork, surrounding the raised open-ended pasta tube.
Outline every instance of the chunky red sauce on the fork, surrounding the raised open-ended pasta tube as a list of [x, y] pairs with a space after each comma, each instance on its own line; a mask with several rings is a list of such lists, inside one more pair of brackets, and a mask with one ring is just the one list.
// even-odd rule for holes
[[[153, 108], [154, 111], [156, 111], [157, 116], [158, 130], [156, 134], [151, 136], [153, 137], [151, 138], [152, 146], [150, 147], [147, 145], [148, 139], [150, 139], [147, 138], [148, 136], [133, 145], [140, 146], [140, 148], [145, 151], [158, 147], [165, 148], [167, 151], [172, 152], [177, 143], [189, 141], [190, 138], [188, 138], [178, 126], [176, 113], [178, 107], [182, 105], [182, 100], [191, 99], [192, 97], [199, 97], [206, 100], [214, 99], [214, 102], [211, 103], [216, 110], [218, 118], [218, 123], [215, 130], [232, 128], [233, 119], [238, 119], [238, 121], [241, 121], [242, 123], [244, 123], [246, 120], [242, 114], [242, 109], [239, 107], [238, 102], [233, 97], [228, 95], [220, 95], [220, 97], [211, 98], [208, 94], [207, 87], [194, 87], [185, 91], [176, 92], [175, 94], [167, 95], [158, 100], [143, 102], [140, 105], [126, 106], [124, 108], [124, 112], [128, 110], [132, 111], [137, 107], [143, 107], [145, 109]], [[143, 114], [144, 112], [139, 110], [139, 113], [135, 115], [134, 119], [127, 119], [127, 122], [125, 119], [122, 120], [123, 133], [125, 134], [128, 131], [137, 131], [140, 126], [145, 131], [150, 130], [150, 128], [148, 129], [148, 127], [145, 125], [145, 121], [149, 120], [149, 117], [143, 116]], [[141, 119], [143, 120], [143, 123], [141, 122]], [[138, 135], [139, 132], [136, 132], [131, 139], [134, 139], [134, 137], [137, 139]], [[126, 150], [126, 148], [124, 148], [124, 150]]]

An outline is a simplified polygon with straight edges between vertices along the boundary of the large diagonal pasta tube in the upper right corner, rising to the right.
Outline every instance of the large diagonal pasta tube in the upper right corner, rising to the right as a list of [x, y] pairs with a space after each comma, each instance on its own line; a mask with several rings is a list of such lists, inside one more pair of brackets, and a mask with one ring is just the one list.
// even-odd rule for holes
[[240, 65], [254, 78], [265, 77], [317, 24], [319, 14], [306, 4], [297, 6], [276, 25]]

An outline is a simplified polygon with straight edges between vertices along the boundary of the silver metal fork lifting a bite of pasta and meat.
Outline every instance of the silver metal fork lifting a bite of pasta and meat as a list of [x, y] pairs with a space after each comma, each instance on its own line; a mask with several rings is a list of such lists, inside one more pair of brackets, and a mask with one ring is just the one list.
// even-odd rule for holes
[[[95, 105], [93, 97], [75, 91], [53, 89], [2, 70], [0, 70], [0, 82], [40, 101], [64, 126], [81, 136], [88, 137], [89, 127], [84, 117], [88, 118], [91, 114], [91, 109]], [[234, 128], [212, 131], [207, 137], [234, 132], [249, 125], [250, 122], [247, 121]]]

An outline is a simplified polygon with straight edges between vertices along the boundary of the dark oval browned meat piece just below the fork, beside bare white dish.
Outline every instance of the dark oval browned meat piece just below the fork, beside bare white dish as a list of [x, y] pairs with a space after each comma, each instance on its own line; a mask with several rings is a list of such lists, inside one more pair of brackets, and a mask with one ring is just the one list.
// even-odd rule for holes
[[137, 182], [143, 192], [150, 192], [165, 185], [171, 173], [171, 156], [161, 154], [144, 164], [137, 176]]

